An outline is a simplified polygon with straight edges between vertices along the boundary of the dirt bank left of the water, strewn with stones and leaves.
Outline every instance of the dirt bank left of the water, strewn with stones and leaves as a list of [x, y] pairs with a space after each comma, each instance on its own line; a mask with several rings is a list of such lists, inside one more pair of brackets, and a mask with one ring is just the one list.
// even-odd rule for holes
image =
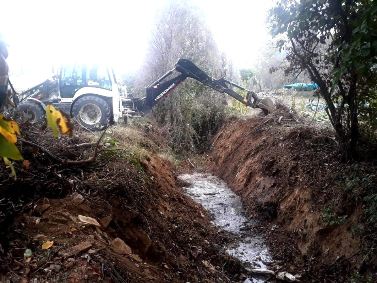
[[[18, 172], [21, 183], [28, 171]], [[216, 248], [227, 238], [178, 188], [168, 161], [153, 155], [52, 175], [2, 226], [1, 282], [229, 282], [225, 273], [240, 274]]]

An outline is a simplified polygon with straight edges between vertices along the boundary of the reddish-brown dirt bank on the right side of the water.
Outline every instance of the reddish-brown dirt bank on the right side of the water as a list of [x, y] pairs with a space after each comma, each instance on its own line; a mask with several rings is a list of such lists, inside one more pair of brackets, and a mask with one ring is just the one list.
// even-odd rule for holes
[[[331, 131], [265, 121], [234, 118], [225, 125], [215, 137], [210, 171], [242, 197], [249, 215], [266, 220], [275, 257], [312, 271], [334, 273], [338, 263], [357, 270], [364, 243], [354, 228], [363, 226], [365, 207], [359, 188], [346, 185], [352, 170], [338, 163]], [[360, 170], [361, 179], [368, 172]]]

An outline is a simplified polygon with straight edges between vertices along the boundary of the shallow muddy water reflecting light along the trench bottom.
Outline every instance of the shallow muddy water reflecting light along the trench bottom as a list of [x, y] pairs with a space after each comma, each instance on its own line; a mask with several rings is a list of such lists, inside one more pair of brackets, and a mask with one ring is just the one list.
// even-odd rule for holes
[[[256, 223], [245, 216], [245, 208], [241, 200], [228, 188], [227, 184], [211, 174], [182, 174], [178, 176], [190, 185], [186, 190], [193, 200], [200, 203], [212, 216], [212, 222], [239, 237], [231, 246], [225, 247], [228, 254], [239, 258], [248, 268], [266, 268], [266, 263], [272, 261], [262, 237], [246, 232], [246, 227]], [[250, 278], [245, 282], [265, 282]]]

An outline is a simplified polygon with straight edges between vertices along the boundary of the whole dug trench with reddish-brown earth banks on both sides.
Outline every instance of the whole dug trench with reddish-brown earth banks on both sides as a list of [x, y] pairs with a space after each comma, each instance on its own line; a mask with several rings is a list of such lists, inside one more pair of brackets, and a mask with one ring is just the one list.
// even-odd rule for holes
[[[161, 137], [145, 143], [147, 154], [98, 170], [65, 170], [30, 153], [36, 159], [18, 168], [17, 182], [2, 172], [0, 282], [258, 282], [252, 277], [261, 270], [251, 268], [264, 264], [274, 271], [264, 277], [270, 281], [278, 270], [302, 282], [339, 282], [351, 269], [373, 272], [374, 257], [363, 257], [365, 235], [353, 229], [366, 221], [365, 192], [343, 187], [355, 168], [337, 162], [330, 131], [287, 117], [233, 118], [213, 138], [211, 153], [198, 157], [245, 212], [237, 199], [230, 210], [223, 206], [232, 194], [221, 180], [192, 172], [194, 159], [176, 168], [160, 157]], [[372, 165], [358, 172], [375, 182]], [[201, 178], [215, 185], [202, 190]], [[227, 201], [208, 201], [218, 197], [216, 189]], [[204, 207], [217, 209], [220, 221]], [[326, 223], [325, 209], [346, 216], [344, 223]], [[221, 222], [234, 211], [238, 218], [225, 220], [231, 229], [243, 221], [236, 232]], [[240, 239], [259, 248], [242, 248]], [[245, 256], [264, 252], [264, 241], [272, 260]]]

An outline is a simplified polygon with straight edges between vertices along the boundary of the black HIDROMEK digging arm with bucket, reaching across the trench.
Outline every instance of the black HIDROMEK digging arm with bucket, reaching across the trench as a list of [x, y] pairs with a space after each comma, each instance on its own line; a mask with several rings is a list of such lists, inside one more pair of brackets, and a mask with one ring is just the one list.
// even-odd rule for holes
[[[166, 82], [162, 81], [169, 77], [173, 73], [173, 71], [178, 71], [181, 74], [172, 78]], [[257, 95], [249, 91], [248, 89], [243, 88], [242, 86], [231, 82], [227, 78], [212, 78], [209, 75], [205, 74], [201, 69], [199, 69], [194, 63], [187, 59], [179, 59], [176, 63], [175, 67], [168, 71], [166, 74], [162, 75], [161, 78], [155, 80], [147, 87], [146, 97], [142, 98], [139, 109], [144, 114], [148, 114], [154, 105], [161, 101], [166, 95], [169, 94], [173, 89], [175, 89], [180, 83], [182, 83], [186, 78], [193, 78], [204, 85], [209, 86], [210, 88], [215, 89], [218, 92], [225, 92], [226, 94], [230, 95], [231, 97], [235, 98], [239, 102], [243, 103], [246, 106], [250, 106], [251, 108], [261, 108], [265, 115], [269, 114], [270, 112], [274, 111], [274, 103], [270, 98], [258, 98]], [[236, 91], [231, 89], [234, 86], [236, 88], [242, 89], [247, 91], [246, 98], [242, 95], [238, 94]], [[141, 107], [142, 106], [142, 107]]]

